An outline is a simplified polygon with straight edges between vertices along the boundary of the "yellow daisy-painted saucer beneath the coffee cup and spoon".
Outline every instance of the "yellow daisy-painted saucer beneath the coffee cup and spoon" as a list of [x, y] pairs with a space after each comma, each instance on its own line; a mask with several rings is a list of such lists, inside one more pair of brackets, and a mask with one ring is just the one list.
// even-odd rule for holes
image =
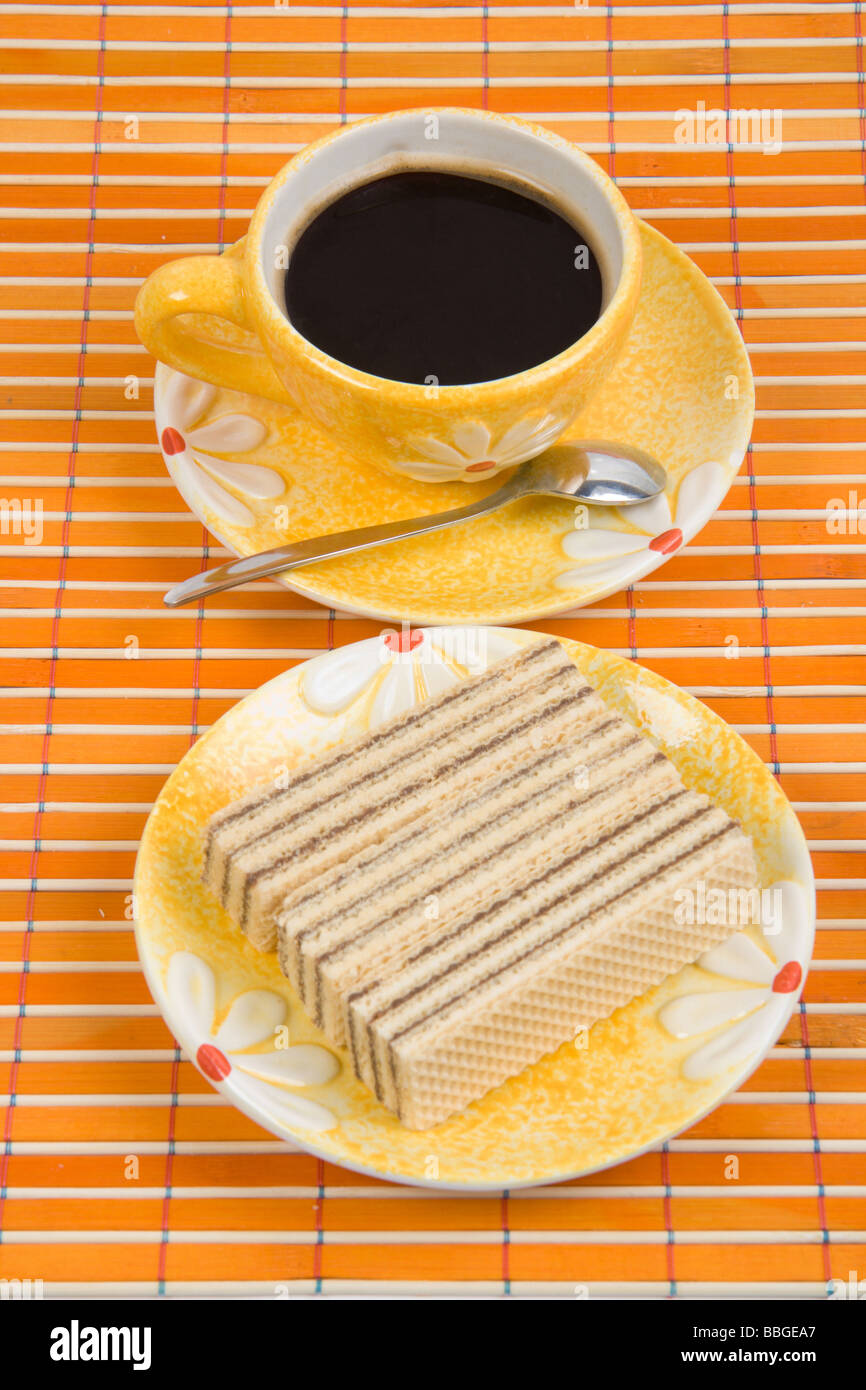
[[[563, 438], [649, 450], [667, 470], [663, 496], [623, 510], [525, 499], [448, 531], [306, 566], [279, 582], [385, 621], [513, 623], [605, 598], [689, 541], [742, 463], [752, 373], [706, 277], [653, 228], [642, 224], [641, 239], [644, 284], [628, 342]], [[161, 363], [154, 414], [183, 500], [240, 556], [445, 512], [499, 485], [391, 477], [354, 463], [288, 406], [193, 381]]]

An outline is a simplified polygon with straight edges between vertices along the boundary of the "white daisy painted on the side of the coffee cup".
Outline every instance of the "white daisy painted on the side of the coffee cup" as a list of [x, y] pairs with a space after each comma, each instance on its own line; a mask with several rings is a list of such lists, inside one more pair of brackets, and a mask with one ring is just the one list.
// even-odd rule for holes
[[421, 459], [405, 460], [402, 468], [418, 482], [475, 482], [535, 457], [559, 439], [567, 423], [562, 416], [552, 414], [541, 420], [521, 420], [506, 430], [496, 443], [481, 423], [459, 425], [453, 443], [416, 436], [407, 442]]

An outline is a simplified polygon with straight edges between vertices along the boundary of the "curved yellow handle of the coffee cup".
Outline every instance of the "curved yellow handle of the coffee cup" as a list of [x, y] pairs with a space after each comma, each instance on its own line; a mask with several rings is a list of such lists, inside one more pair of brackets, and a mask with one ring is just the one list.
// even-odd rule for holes
[[185, 256], [145, 281], [135, 300], [135, 331], [154, 357], [189, 377], [295, 404], [257, 338], [231, 348], [182, 321], [185, 314], [210, 314], [254, 336], [245, 300], [236, 247], [222, 256]]

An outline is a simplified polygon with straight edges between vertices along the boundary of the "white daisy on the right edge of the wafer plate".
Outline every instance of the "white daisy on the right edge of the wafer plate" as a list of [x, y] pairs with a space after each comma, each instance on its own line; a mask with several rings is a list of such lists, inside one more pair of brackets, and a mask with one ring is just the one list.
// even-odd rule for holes
[[710, 1033], [683, 1062], [691, 1081], [717, 1076], [770, 1047], [781, 1033], [799, 994], [808, 965], [809, 920], [799, 884], [783, 881], [773, 934], [762, 937], [763, 949], [745, 931], [706, 951], [695, 962], [701, 970], [734, 980], [742, 988], [702, 990], [670, 999], [659, 1011], [659, 1023], [673, 1037], [692, 1038]]

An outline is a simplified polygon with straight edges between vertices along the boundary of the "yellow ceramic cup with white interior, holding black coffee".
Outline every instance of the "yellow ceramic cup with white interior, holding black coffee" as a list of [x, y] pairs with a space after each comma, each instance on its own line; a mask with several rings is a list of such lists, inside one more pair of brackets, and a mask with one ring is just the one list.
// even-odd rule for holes
[[[453, 385], [435, 373], [414, 382], [374, 375], [306, 338], [285, 289], [299, 238], [348, 190], [406, 170], [514, 183], [556, 208], [598, 259], [598, 318], [527, 370]], [[516, 117], [396, 111], [309, 145], [268, 185], [249, 232], [222, 256], [186, 256], [156, 270], [138, 295], [135, 325], [170, 367], [292, 406], [359, 460], [425, 481], [475, 482], [541, 453], [584, 410], [626, 342], [639, 286], [637, 221], [577, 146]]]

